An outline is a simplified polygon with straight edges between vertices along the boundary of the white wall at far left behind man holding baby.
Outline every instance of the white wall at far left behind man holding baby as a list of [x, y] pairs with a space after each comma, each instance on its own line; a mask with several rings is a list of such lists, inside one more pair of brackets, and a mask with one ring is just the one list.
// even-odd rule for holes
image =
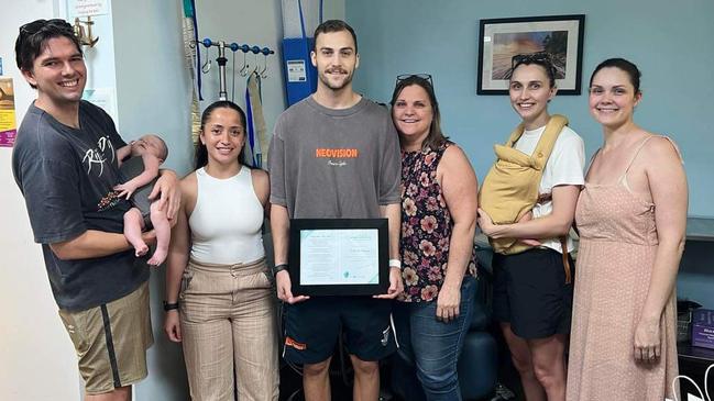
[[[53, 18], [57, 10], [51, 0], [3, 1], [0, 57], [4, 76], [14, 79], [18, 124], [35, 98], [15, 67], [18, 27]], [[0, 399], [77, 400], [75, 350], [57, 315], [41, 248], [32, 240], [11, 154], [11, 148], [0, 148]]]

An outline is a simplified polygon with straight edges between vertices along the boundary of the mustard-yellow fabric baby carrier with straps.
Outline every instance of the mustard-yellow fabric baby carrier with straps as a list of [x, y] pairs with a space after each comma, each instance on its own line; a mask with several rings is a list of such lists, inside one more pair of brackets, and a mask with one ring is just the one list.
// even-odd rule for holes
[[[558, 135], [565, 125], [568, 125], [567, 118], [558, 114], [552, 115], [532, 155], [526, 155], [513, 147], [524, 133], [523, 124], [510, 133], [505, 145], [494, 145], [497, 159], [486, 175], [479, 192], [479, 207], [488, 213], [494, 224], [515, 223], [536, 203], [550, 199], [549, 193], [542, 196], [538, 193], [540, 180]], [[563, 244], [565, 278], [569, 282], [568, 248], [563, 240], [565, 238], [561, 238], [561, 244]], [[532, 247], [515, 238], [488, 238], [488, 242], [494, 252], [503, 255], [519, 254]]]

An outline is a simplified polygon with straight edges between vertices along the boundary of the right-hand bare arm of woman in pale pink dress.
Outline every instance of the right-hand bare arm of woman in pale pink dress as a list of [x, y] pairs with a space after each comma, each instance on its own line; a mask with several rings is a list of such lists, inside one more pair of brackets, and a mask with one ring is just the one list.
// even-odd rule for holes
[[659, 246], [634, 341], [635, 358], [651, 360], [660, 354], [659, 321], [674, 288], [684, 250], [688, 188], [684, 168], [669, 141], [652, 138], [641, 156], [655, 203]]

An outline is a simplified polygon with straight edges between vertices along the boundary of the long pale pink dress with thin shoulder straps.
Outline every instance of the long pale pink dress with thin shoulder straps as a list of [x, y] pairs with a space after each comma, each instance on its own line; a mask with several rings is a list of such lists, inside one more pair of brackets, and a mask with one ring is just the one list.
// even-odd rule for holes
[[568, 365], [569, 401], [662, 401], [678, 375], [675, 291], [660, 319], [659, 361], [636, 363], [635, 328], [649, 289], [658, 237], [655, 204], [627, 186], [591, 185], [578, 199], [580, 249]]

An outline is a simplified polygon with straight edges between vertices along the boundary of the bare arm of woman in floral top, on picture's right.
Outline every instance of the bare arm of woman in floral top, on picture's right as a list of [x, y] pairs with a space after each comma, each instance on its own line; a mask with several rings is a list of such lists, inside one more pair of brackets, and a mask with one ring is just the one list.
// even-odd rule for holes
[[451, 213], [453, 227], [449, 238], [447, 276], [437, 299], [437, 318], [449, 321], [459, 316], [461, 281], [473, 253], [479, 201], [476, 174], [458, 146], [449, 146], [437, 167], [443, 200]]

